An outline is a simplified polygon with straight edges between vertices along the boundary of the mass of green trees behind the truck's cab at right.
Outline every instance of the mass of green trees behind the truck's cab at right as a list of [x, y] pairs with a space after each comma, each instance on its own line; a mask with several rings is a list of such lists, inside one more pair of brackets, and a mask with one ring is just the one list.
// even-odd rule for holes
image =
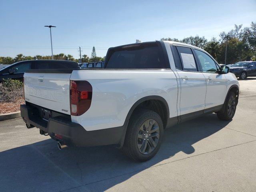
[[242, 28], [242, 25], [234, 25], [234, 29], [228, 32], [221, 32], [220, 39], [212, 38], [209, 42], [203, 37], [190, 36], [178, 40], [176, 38], [162, 38], [161, 40], [178, 41], [191, 44], [205, 49], [219, 63], [225, 62], [225, 52], [227, 64], [243, 60], [256, 60], [256, 22], [252, 22], [250, 27]]

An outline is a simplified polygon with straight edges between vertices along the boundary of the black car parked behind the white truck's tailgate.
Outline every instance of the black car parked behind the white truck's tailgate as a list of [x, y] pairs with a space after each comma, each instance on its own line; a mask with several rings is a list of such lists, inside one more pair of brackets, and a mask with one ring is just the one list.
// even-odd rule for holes
[[80, 68], [75, 61], [64, 60], [27, 60], [16, 62], [0, 70], [0, 82], [2, 79], [23, 80], [23, 75], [29, 69], [77, 69]]

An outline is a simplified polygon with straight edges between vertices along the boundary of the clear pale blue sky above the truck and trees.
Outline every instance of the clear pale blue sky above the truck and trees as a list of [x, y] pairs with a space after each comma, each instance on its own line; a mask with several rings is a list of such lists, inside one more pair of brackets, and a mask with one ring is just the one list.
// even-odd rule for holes
[[256, 0], [0, 0], [0, 56], [54, 54], [105, 56], [112, 46], [162, 37], [208, 40], [234, 24], [256, 21]]

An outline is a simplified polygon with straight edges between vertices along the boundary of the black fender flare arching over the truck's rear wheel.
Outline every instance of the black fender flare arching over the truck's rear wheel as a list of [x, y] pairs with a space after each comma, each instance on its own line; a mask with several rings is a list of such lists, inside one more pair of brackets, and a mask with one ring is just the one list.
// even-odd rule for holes
[[169, 111], [169, 106], [168, 106], [168, 103], [166, 102], [166, 100], [161, 97], [161, 96], [157, 96], [157, 95], [152, 95], [152, 96], [146, 96], [146, 97], [143, 97], [143, 98], [140, 98], [138, 101], [136, 101], [132, 107], [130, 108], [127, 116], [126, 116], [126, 119], [124, 121], [124, 125], [123, 125], [123, 134], [122, 134], [122, 137], [120, 139], [120, 142], [118, 144], [118, 148], [122, 148], [123, 144], [124, 144], [124, 139], [125, 139], [125, 136], [126, 136], [126, 130], [127, 130], [127, 127], [128, 127], [128, 124], [129, 124], [129, 120], [132, 116], [132, 113], [134, 112], [134, 110], [136, 109], [136, 107], [141, 104], [142, 102], [144, 101], [147, 101], [147, 100], [159, 100], [161, 102], [164, 103], [165, 107], [166, 107], [166, 110], [167, 110], [167, 118], [169, 118], [169, 114], [170, 114], [170, 111]]

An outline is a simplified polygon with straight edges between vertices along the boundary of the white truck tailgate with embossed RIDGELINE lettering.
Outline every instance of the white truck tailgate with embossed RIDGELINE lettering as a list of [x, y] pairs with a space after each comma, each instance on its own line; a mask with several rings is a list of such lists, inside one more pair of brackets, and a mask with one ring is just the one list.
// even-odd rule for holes
[[25, 100], [50, 110], [70, 114], [70, 75], [26, 72]]

